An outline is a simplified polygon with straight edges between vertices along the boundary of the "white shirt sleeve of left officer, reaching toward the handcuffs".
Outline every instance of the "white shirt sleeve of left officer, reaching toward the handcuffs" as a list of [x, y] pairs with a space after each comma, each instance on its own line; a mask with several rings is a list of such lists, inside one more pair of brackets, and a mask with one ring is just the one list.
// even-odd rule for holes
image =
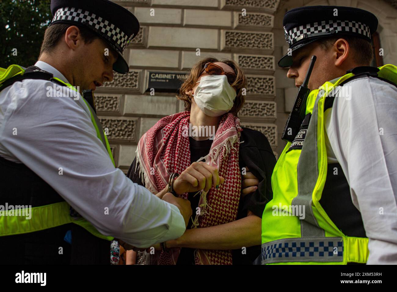
[[143, 248], [180, 237], [179, 209], [115, 168], [89, 114], [73, 97], [47, 97], [47, 86], [27, 79], [1, 92], [0, 155], [28, 166], [104, 235]]

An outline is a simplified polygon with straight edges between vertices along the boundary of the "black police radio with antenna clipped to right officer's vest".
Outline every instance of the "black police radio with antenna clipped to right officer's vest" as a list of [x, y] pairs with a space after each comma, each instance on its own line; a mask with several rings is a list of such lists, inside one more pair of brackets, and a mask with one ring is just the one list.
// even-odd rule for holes
[[304, 116], [306, 113], [306, 100], [310, 92], [310, 89], [307, 88], [307, 84], [309, 83], [310, 74], [312, 73], [316, 58], [316, 56], [312, 56], [309, 68], [306, 72], [306, 77], [304, 77], [302, 85], [299, 86], [294, 106], [288, 116], [287, 124], [285, 124], [283, 135], [281, 135], [281, 139], [283, 139], [284, 141], [292, 143], [292, 141], [295, 139], [295, 136], [299, 132], [299, 129], [301, 128], [301, 124], [304, 120]]

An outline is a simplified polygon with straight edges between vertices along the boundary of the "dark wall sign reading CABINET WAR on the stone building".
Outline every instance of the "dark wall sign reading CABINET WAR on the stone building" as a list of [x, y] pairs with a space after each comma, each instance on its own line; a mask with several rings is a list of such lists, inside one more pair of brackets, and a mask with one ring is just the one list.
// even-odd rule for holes
[[154, 88], [157, 92], [177, 92], [185, 79], [185, 73], [181, 72], [156, 72], [149, 71], [147, 76], [147, 89]]

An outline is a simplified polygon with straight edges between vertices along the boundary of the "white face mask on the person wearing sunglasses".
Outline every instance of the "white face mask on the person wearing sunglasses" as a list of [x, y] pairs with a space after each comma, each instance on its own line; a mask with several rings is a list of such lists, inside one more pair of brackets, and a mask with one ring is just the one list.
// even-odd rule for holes
[[[192, 94], [198, 107], [207, 116], [222, 116], [233, 107], [236, 91], [227, 82], [226, 75], [209, 75], [200, 79]], [[197, 83], [198, 83], [197, 82]]]

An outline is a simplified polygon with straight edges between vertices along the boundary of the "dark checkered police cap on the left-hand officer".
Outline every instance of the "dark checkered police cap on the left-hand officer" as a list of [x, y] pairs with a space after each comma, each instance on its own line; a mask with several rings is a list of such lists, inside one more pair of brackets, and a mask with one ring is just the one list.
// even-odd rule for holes
[[139, 31], [139, 22], [131, 12], [108, 0], [52, 0], [51, 11], [51, 25], [75, 23], [92, 29], [118, 53], [113, 70], [129, 72], [123, 50]]

